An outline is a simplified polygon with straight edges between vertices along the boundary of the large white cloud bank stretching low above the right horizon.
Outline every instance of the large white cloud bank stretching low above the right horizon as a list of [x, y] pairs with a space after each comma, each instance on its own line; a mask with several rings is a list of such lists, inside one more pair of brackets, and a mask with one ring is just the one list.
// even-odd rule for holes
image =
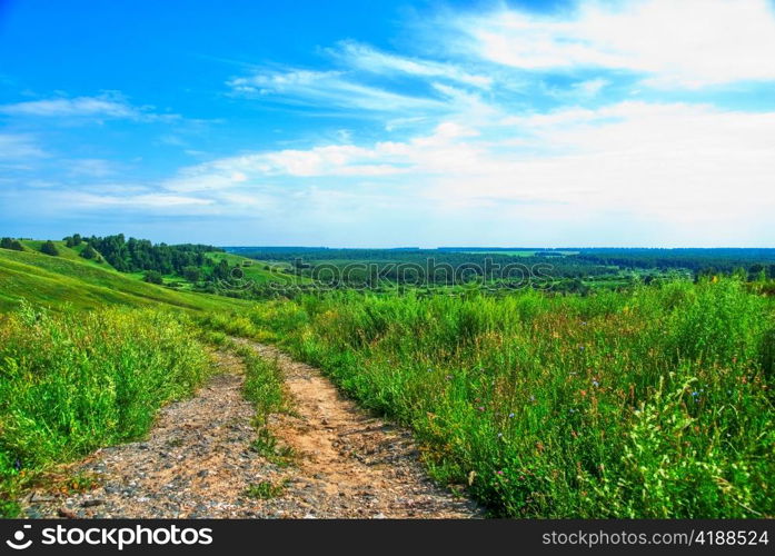
[[620, 102], [479, 129], [446, 121], [406, 141], [230, 157], [186, 169], [163, 187], [222, 202], [255, 192], [264, 208], [301, 212], [325, 197], [336, 215], [357, 206], [376, 219], [386, 218], [387, 199], [431, 220], [465, 215], [575, 232], [618, 218], [645, 221], [655, 235], [722, 241], [771, 218], [773, 176], [775, 112]]

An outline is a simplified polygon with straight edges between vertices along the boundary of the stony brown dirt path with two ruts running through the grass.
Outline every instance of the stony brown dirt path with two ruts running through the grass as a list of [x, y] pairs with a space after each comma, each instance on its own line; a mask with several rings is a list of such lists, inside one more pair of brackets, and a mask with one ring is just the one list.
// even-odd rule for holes
[[[425, 475], [411, 436], [345, 399], [317, 369], [276, 348], [294, 415], [272, 415], [269, 428], [297, 456], [290, 466], [251, 449], [254, 408], [241, 396], [242, 364], [219, 354], [222, 373], [195, 398], [160, 411], [145, 441], [103, 448], [70, 466], [98, 478], [69, 496], [38, 492], [30, 517], [475, 517], [478, 508]], [[281, 463], [280, 463], [281, 464]], [[251, 485], [281, 486], [268, 499]]]

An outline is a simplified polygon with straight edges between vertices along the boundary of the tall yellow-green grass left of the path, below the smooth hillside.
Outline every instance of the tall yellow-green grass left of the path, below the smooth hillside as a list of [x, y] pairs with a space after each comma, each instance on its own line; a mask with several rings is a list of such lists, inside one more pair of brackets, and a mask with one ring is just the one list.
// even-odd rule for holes
[[[185, 317], [105, 309], [0, 317], [0, 513], [30, 471], [142, 436], [208, 356]], [[4, 502], [3, 502], [4, 499]]]

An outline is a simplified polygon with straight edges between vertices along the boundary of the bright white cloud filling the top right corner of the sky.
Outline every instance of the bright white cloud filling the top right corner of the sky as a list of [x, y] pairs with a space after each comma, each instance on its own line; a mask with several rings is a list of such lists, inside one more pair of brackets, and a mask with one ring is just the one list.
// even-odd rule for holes
[[657, 87], [775, 80], [767, 0], [590, 1], [555, 16], [505, 9], [463, 17], [457, 29], [466, 50], [527, 70], [632, 70]]

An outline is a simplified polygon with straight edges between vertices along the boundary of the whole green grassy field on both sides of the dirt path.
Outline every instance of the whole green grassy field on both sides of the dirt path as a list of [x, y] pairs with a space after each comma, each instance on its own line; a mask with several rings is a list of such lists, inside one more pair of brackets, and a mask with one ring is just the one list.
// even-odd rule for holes
[[[775, 515], [766, 271], [695, 281], [663, 268], [646, 284], [648, 268], [617, 267], [635, 278], [599, 275], [578, 294], [312, 288], [244, 300], [148, 284], [61, 244], [56, 257], [24, 247], [0, 249], [4, 515], [57, 464], [142, 437], [212, 373], [227, 334], [277, 344], [409, 427], [430, 476], [493, 516]], [[207, 258], [272, 276], [271, 262]], [[266, 420], [285, 404], [279, 375], [236, 353]]]

